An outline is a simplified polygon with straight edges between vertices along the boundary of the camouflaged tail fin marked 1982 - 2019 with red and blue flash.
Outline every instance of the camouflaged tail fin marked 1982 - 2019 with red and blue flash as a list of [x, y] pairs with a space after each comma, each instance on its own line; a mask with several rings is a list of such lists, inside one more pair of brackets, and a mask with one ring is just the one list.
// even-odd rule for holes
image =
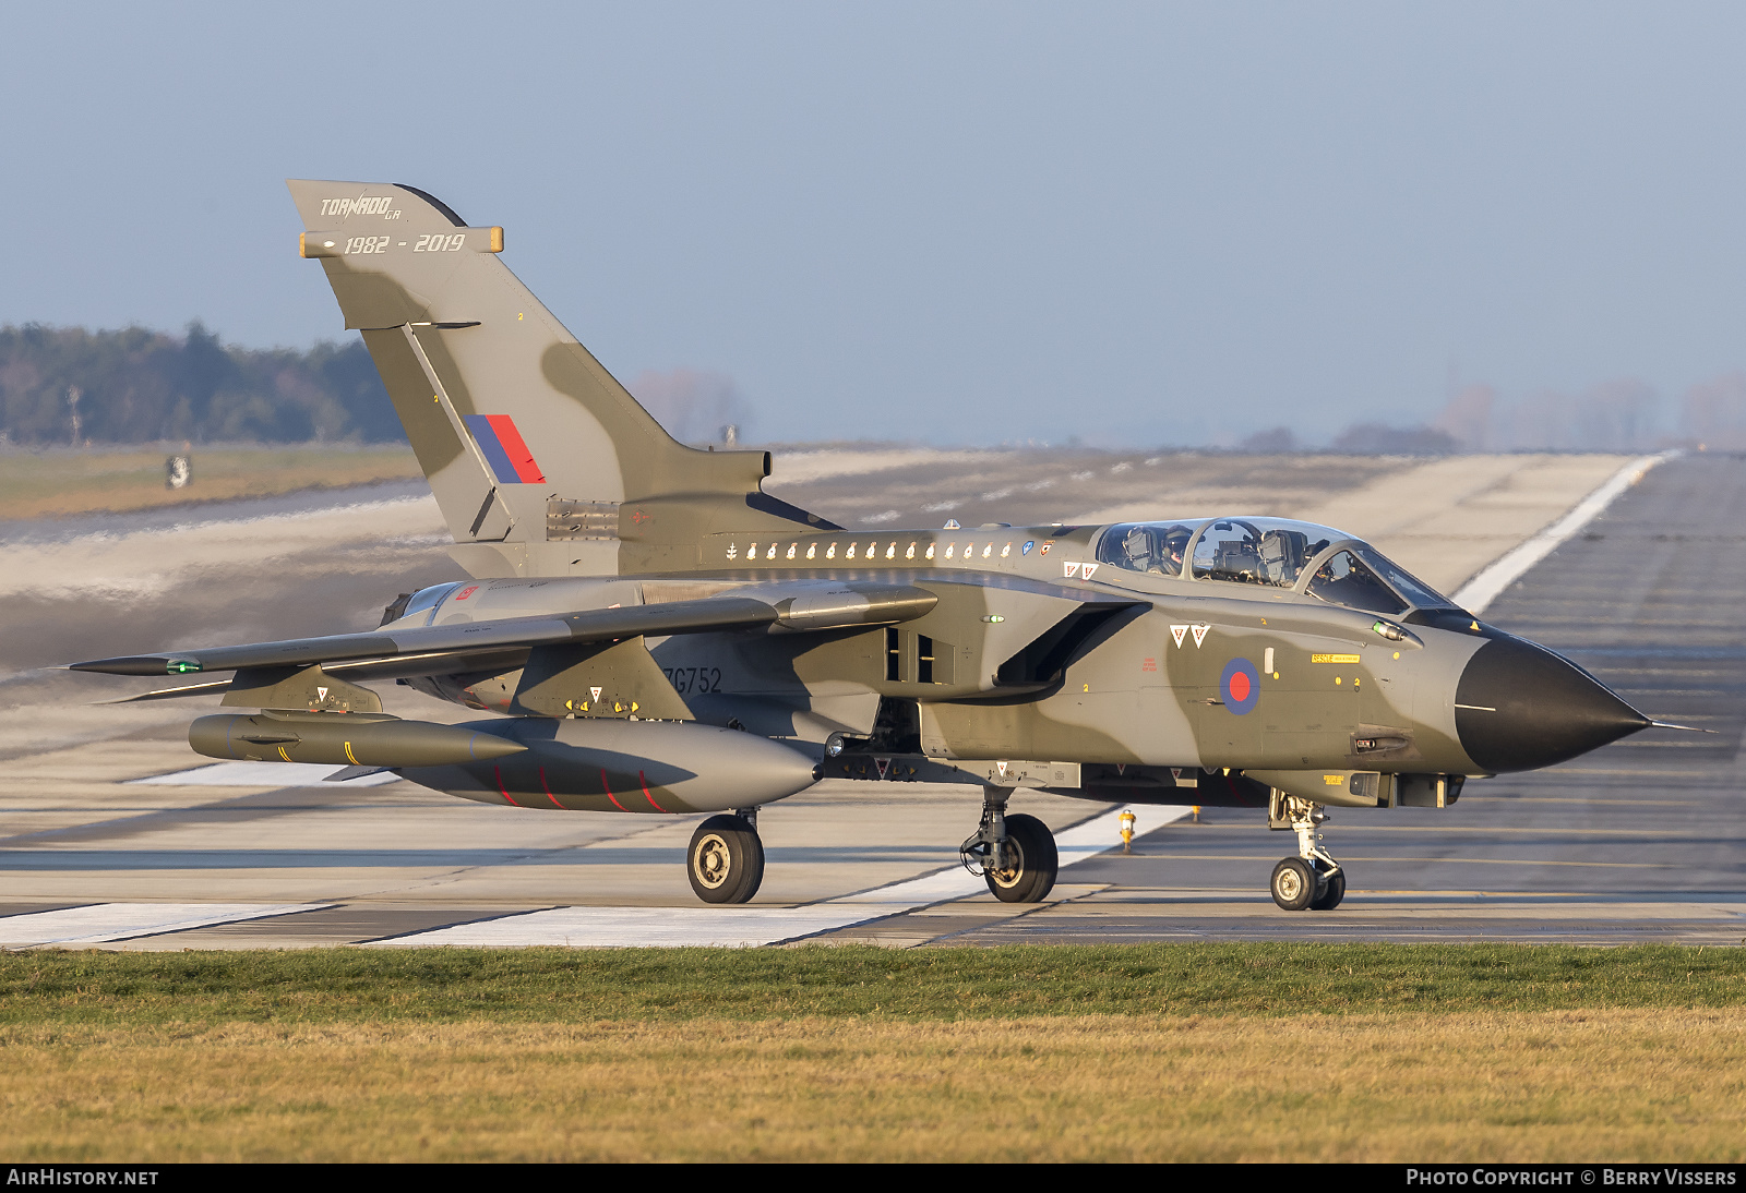
[[761, 492], [766, 452], [669, 436], [499, 260], [503, 228], [416, 187], [286, 185], [475, 576], [688, 570], [707, 534], [831, 528]]

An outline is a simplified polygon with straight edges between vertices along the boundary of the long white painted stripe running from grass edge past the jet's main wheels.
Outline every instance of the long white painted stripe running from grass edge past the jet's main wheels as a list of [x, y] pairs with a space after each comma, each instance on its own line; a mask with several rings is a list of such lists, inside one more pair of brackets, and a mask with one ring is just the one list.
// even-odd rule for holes
[[[1133, 808], [1135, 837], [1182, 820], [1187, 808]], [[1055, 837], [1062, 869], [1121, 844], [1121, 809], [1095, 816]], [[962, 867], [843, 895], [805, 907], [553, 907], [436, 928], [384, 940], [384, 945], [766, 945], [835, 931], [917, 907], [986, 895], [988, 886]], [[1014, 907], [1014, 910], [1018, 910]]]

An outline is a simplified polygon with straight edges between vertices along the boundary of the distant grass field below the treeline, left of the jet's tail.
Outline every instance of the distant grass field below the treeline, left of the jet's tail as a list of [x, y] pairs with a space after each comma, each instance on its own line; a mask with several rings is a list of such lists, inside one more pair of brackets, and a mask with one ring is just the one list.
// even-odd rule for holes
[[164, 488], [161, 450], [0, 455], [0, 520], [274, 497], [419, 476], [407, 447], [215, 448], [192, 455], [194, 483], [187, 488]]

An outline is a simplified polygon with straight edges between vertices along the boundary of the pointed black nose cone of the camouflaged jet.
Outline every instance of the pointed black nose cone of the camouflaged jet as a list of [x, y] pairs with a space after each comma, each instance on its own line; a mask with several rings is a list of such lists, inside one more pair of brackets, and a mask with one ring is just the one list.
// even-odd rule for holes
[[1493, 773], [1564, 762], [1650, 726], [1587, 671], [1521, 638], [1479, 647], [1454, 691], [1461, 748]]

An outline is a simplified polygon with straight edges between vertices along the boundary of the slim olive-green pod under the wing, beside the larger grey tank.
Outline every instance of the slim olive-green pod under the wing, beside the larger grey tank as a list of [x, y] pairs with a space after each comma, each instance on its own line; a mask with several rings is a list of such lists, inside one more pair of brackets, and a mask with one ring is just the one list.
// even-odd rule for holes
[[438, 726], [379, 713], [218, 713], [189, 726], [189, 745], [210, 759], [333, 766], [456, 766], [489, 762], [527, 746], [477, 726]]

